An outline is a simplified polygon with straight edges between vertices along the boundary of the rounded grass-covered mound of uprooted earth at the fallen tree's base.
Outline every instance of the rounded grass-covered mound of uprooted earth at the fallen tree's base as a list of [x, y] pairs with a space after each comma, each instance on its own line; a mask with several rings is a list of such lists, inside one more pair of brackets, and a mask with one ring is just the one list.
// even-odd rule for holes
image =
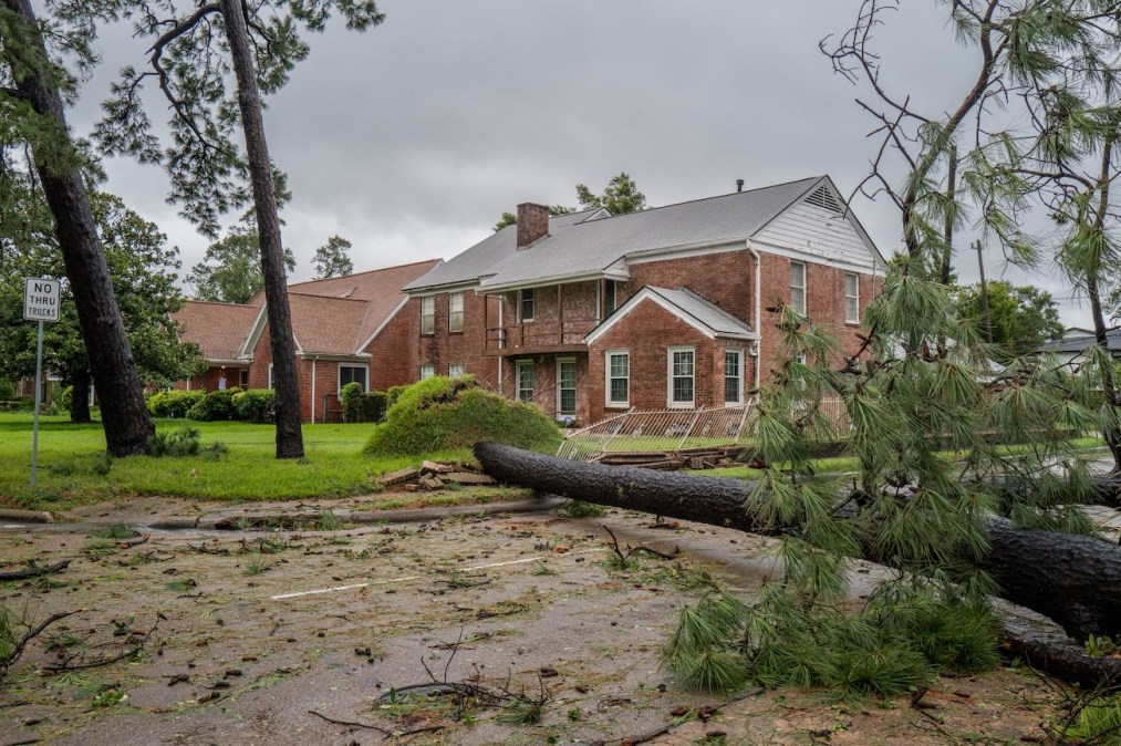
[[552, 452], [560, 432], [532, 404], [485, 392], [471, 376], [435, 376], [409, 386], [367, 442], [370, 454], [415, 454], [495, 441]]

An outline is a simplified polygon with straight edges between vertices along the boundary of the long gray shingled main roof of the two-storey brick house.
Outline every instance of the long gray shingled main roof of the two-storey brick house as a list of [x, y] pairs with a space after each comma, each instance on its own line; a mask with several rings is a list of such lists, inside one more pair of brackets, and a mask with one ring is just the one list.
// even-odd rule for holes
[[675, 247], [745, 240], [822, 182], [824, 176], [722, 196], [586, 220], [549, 220], [549, 234], [517, 250], [508, 225], [406, 286], [406, 291], [478, 282], [484, 288], [595, 276], [622, 257]]

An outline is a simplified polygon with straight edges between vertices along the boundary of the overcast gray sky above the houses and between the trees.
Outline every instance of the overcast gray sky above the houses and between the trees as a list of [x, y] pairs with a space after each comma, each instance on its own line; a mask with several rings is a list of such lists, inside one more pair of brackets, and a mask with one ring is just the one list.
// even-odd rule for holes
[[[971, 84], [972, 52], [949, 40], [945, 6], [905, 0], [882, 29], [886, 82], [938, 111]], [[353, 242], [355, 269], [452, 257], [490, 233], [518, 202], [575, 204], [574, 185], [602, 190], [628, 172], [651, 206], [828, 174], [847, 194], [868, 173], [873, 122], [817, 43], [852, 22], [859, 0], [379, 0], [371, 31], [333, 24], [269, 100], [274, 160], [289, 176], [285, 243], [294, 279], [315, 248]], [[104, 65], [71, 113], [87, 133], [122, 64], [143, 47], [105, 28]], [[947, 50], [957, 49], [954, 54]], [[154, 110], [154, 118], [155, 118]], [[105, 188], [158, 223], [184, 275], [206, 239], [165, 204], [158, 168], [106, 163]], [[899, 217], [854, 201], [884, 255]], [[962, 233], [962, 246], [975, 236]], [[986, 273], [1001, 277], [999, 255]], [[976, 277], [972, 252], [958, 260]], [[1084, 324], [1045, 267], [1036, 284]], [[1009, 275], [1025, 282], [1022, 275]]]

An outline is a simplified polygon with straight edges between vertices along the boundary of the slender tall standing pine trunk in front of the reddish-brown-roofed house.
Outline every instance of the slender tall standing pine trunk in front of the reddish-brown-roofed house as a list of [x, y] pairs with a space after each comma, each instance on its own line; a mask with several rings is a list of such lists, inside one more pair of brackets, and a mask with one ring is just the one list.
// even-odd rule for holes
[[257, 88], [257, 72], [249, 48], [244, 8], [241, 0], [222, 0], [230, 58], [238, 77], [238, 104], [241, 108], [249, 175], [253, 185], [257, 230], [261, 240], [261, 274], [265, 277], [265, 300], [268, 305], [272, 349], [272, 375], [276, 386], [277, 458], [299, 459], [304, 455], [300, 427], [299, 381], [296, 371], [296, 343], [288, 307], [288, 280], [284, 267], [284, 245], [280, 219], [277, 215], [276, 183], [265, 138], [265, 120]]

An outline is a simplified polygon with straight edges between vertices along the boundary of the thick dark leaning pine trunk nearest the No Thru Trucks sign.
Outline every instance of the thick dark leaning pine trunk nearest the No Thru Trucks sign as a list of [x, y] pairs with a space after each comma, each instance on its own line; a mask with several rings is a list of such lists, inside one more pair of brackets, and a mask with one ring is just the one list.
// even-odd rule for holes
[[[24, 42], [46, 61], [47, 52], [29, 0], [3, 0], [26, 24]], [[93, 381], [101, 396], [105, 445], [113, 455], [145, 453], [156, 429], [143, 400], [132, 350], [113, 296], [80, 157], [66, 128], [62, 95], [43, 65], [22, 64], [11, 47], [0, 45], [16, 86], [52, 131], [31, 141], [35, 168], [55, 217], [55, 236], [63, 252], [82, 339]]]

